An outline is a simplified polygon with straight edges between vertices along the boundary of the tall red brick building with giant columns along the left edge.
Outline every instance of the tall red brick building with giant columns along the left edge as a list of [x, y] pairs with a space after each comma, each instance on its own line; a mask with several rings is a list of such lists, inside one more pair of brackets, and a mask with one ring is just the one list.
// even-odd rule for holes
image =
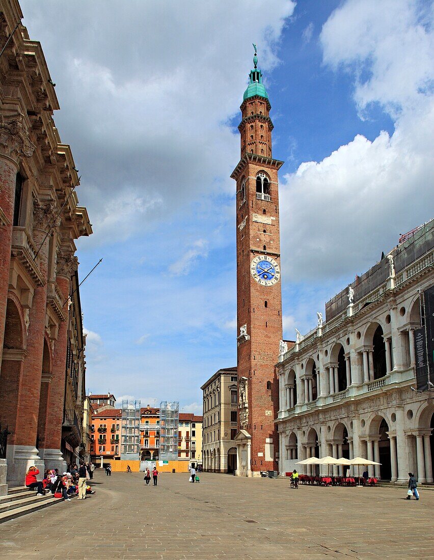
[[[16, 0], [1, 10], [0, 48], [22, 17]], [[30, 465], [64, 468], [82, 441], [74, 241], [92, 229], [72, 192], [76, 165], [54, 124], [41, 45], [22, 25], [0, 58], [0, 101], [0, 423], [10, 432], [7, 478], [22, 484]]]

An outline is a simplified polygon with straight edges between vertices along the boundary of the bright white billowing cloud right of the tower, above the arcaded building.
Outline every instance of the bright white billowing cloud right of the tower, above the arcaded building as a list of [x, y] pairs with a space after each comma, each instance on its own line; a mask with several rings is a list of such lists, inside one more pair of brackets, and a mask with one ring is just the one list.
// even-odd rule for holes
[[395, 130], [373, 141], [358, 135], [284, 176], [282, 269], [290, 279], [364, 272], [401, 232], [432, 217], [433, 32], [419, 8], [349, 0], [323, 27], [324, 63], [351, 73], [358, 109], [379, 105]]

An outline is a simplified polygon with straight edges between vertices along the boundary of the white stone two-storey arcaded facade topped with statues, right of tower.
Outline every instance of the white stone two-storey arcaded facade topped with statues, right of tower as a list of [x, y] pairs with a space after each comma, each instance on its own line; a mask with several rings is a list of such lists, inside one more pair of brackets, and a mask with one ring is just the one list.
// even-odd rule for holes
[[415, 390], [414, 330], [424, 321], [420, 293], [434, 284], [434, 220], [415, 235], [377, 263], [384, 279], [363, 296], [357, 284], [342, 291], [346, 309], [281, 356], [280, 473], [311, 456], [362, 456], [381, 463], [370, 475], [404, 484], [413, 472], [433, 482], [433, 391]]

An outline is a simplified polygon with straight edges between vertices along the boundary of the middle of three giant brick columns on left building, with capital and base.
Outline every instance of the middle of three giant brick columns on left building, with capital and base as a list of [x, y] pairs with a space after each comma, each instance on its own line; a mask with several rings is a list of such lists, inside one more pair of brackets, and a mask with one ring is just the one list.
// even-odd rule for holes
[[39, 251], [39, 270], [44, 279], [44, 285], [36, 286], [29, 311], [27, 356], [24, 361], [21, 390], [18, 396], [13, 464], [10, 473], [8, 473], [8, 479], [17, 484], [22, 484], [29, 466], [35, 465], [40, 472], [44, 470], [44, 461], [41, 460], [35, 445], [38, 435], [48, 279], [49, 236], [45, 241], [44, 238], [54, 221], [54, 217], [51, 202], [40, 204], [38, 200], [34, 201], [33, 239], [35, 246], [41, 248]]

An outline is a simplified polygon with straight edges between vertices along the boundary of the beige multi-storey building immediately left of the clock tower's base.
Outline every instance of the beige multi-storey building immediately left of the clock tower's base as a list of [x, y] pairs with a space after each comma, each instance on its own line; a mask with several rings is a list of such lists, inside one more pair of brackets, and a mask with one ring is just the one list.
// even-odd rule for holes
[[236, 469], [237, 368], [218, 370], [203, 391], [203, 470], [233, 473]]

